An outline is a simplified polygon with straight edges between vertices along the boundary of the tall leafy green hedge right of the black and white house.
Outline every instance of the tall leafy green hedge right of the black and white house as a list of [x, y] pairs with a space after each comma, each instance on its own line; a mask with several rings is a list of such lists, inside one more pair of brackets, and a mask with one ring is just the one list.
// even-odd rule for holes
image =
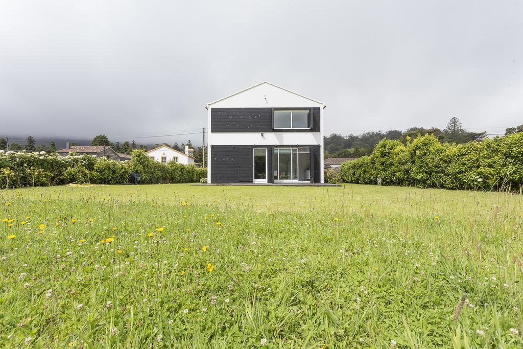
[[341, 174], [346, 183], [520, 190], [523, 133], [459, 145], [430, 134], [407, 144], [383, 139], [370, 156], [343, 163]]

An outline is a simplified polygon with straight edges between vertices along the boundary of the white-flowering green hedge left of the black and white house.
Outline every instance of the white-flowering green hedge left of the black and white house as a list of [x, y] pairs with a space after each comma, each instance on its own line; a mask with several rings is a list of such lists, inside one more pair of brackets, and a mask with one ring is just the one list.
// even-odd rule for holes
[[207, 168], [162, 164], [143, 150], [134, 150], [130, 161], [113, 161], [92, 155], [60, 156], [45, 152], [0, 151], [0, 188], [48, 186], [69, 183], [122, 184], [131, 172], [141, 175], [143, 184], [194, 183], [207, 177]]

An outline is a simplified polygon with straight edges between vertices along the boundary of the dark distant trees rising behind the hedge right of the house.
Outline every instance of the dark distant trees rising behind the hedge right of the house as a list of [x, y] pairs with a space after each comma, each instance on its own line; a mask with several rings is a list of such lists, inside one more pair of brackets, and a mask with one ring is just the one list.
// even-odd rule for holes
[[[523, 125], [510, 127], [506, 129], [505, 135], [523, 132]], [[480, 141], [486, 137], [486, 132], [470, 132], [463, 128], [461, 121], [453, 117], [444, 130], [439, 128], [411, 127], [406, 131], [389, 130], [366, 132], [355, 136], [349, 134], [342, 136], [339, 133], [332, 133], [324, 138], [325, 159], [328, 157], [361, 157], [370, 155], [376, 144], [386, 138], [397, 140], [406, 144], [408, 139], [415, 139], [417, 136], [431, 134], [438, 139], [440, 143], [464, 144], [470, 141]]]

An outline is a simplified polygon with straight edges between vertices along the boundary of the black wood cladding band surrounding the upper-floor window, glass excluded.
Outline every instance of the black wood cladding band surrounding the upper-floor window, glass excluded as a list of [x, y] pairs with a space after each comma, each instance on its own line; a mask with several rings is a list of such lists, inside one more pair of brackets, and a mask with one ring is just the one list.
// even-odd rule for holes
[[[312, 110], [306, 130], [273, 130], [273, 110]], [[320, 132], [320, 108], [211, 108], [211, 132]]]

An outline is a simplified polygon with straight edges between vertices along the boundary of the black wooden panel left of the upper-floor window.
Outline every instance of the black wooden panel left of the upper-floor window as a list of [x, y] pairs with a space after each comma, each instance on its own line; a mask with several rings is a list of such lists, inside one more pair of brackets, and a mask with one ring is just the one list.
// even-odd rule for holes
[[272, 108], [211, 108], [211, 132], [269, 132]]

